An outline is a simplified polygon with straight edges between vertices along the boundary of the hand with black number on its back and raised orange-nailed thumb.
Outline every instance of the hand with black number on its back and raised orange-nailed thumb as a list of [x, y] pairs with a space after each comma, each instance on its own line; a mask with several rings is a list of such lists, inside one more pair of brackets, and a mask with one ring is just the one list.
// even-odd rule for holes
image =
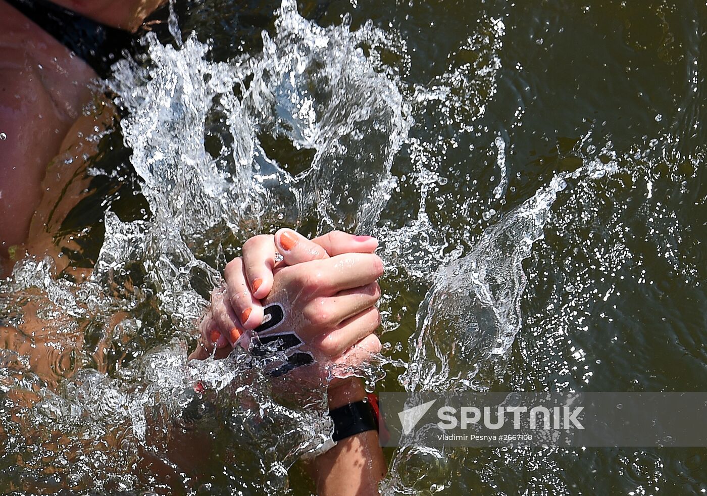
[[[260, 330], [257, 341], [273, 340], [274, 335], [290, 343], [303, 343], [297, 360], [315, 359], [319, 364], [334, 362], [337, 376], [346, 367], [356, 367], [380, 351], [380, 341], [374, 331], [380, 325], [380, 313], [375, 302], [380, 287], [375, 282], [382, 275], [382, 261], [372, 253], [341, 253], [331, 258], [324, 250], [294, 231], [281, 231], [275, 236], [284, 262], [294, 263], [276, 269], [271, 293], [264, 304], [278, 304], [284, 313], [275, 328]], [[271, 308], [271, 307], [268, 307]], [[271, 320], [272, 322], [272, 320]], [[266, 324], [267, 325], [267, 324]], [[248, 347], [247, 338], [240, 343]], [[356, 345], [356, 346], [354, 346]], [[253, 351], [253, 345], [250, 345]], [[305, 374], [312, 375], [312, 370]], [[314, 374], [317, 375], [317, 374]]]

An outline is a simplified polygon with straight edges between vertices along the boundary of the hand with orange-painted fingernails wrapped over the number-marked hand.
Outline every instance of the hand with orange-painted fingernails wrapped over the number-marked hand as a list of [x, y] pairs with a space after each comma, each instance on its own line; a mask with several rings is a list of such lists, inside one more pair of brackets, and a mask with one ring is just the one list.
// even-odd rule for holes
[[[331, 231], [312, 241], [291, 229], [272, 235], [250, 238], [243, 246], [243, 258], [235, 258], [226, 266], [226, 283], [211, 294], [209, 312], [199, 325], [201, 344], [192, 357], [206, 358], [216, 345], [216, 357], [226, 357], [244, 330], [262, 323], [260, 299], [269, 294], [274, 272], [285, 265], [329, 258], [343, 253], [373, 253], [378, 241], [370, 236], [352, 236]], [[284, 260], [275, 263], [279, 251]]]

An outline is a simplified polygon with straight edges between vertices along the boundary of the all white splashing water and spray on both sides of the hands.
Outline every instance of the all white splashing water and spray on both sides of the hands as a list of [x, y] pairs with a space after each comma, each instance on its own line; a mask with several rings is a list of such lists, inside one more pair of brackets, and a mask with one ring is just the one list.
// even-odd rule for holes
[[[194, 35], [181, 43], [172, 10], [177, 48], [148, 35], [146, 57], [117, 64], [106, 84], [128, 112], [122, 135], [150, 216], [122, 221], [105, 214], [105, 241], [86, 282], [57, 279], [49, 259], [29, 259], [1, 283], [2, 325], [23, 328], [33, 313], [49, 323], [42, 333], [21, 336], [46, 350], [41, 363], [2, 350], [0, 467], [8, 478], [78, 492], [152, 491], [159, 481], [139, 463], [155, 458], [180, 488], [209, 491], [211, 482], [203, 483], [198, 470], [187, 473], [169, 451], [170, 443], [189, 438], [189, 420], [200, 418], [206, 427], [199, 441], [206, 436], [217, 453], [204, 459], [223, 463], [215, 486], [286, 492], [293, 463], [331, 432], [325, 385], [305, 398], [304, 409], [284, 400], [286, 385], [274, 387], [240, 350], [228, 359], [187, 362], [228, 245], [271, 226], [375, 233], [388, 268], [381, 304], [387, 336], [399, 332], [395, 316], [406, 315], [402, 287], [426, 292], [419, 308], [409, 308], [417, 312], [416, 330], [401, 339], [407, 347], [391, 353], [402, 358], [380, 357], [362, 371], [371, 383], [402, 371], [399, 386], [410, 392], [491, 388], [506, 373], [514, 343], [537, 346], [520, 332], [528, 327], [522, 297], [537, 284], [527, 264], [544, 236], [578, 224], [554, 214], [559, 198], [600, 202], [595, 188], [602, 178], [648, 177], [636, 165], [646, 151], [618, 156], [612, 146], [590, 144], [589, 134], [572, 152], [580, 166], [553, 172], [546, 186], [510, 208], [513, 149], [506, 134], [484, 124], [498, 92], [504, 23], [479, 16], [477, 32], [464, 32], [443, 73], [426, 85], [401, 76], [410, 62], [398, 33], [371, 22], [351, 25], [345, 16], [321, 27], [284, 0], [274, 33], [262, 34], [262, 52], [211, 62], [209, 45]], [[381, 55], [385, 50], [405, 59], [402, 69]], [[486, 149], [467, 144], [470, 136]], [[486, 166], [469, 168], [466, 178], [445, 171], [443, 160], [462, 144], [469, 161]], [[677, 219], [662, 214], [650, 217], [650, 229], [662, 236], [660, 255], [687, 279], [699, 279], [677, 248]], [[612, 226], [619, 231], [618, 221]], [[625, 246], [617, 243], [615, 251], [600, 260], [607, 272], [631, 260]], [[592, 294], [581, 284], [567, 290], [574, 301]], [[194, 392], [197, 383], [201, 393]], [[206, 399], [201, 405], [199, 395]], [[399, 449], [384, 494], [439, 492], [475, 469], [495, 487], [510, 461], [532, 466], [552, 455], [547, 463], [562, 465], [562, 454], [551, 450], [493, 450], [475, 465], [467, 455]], [[548, 483], [558, 494], [571, 493], [566, 481]]]

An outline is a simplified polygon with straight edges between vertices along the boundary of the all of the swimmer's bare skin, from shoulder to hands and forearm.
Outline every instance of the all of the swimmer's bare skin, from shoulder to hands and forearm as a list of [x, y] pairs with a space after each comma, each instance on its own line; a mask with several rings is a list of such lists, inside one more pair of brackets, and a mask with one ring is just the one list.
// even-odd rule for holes
[[[131, 31], [163, 3], [55, 1], [96, 21]], [[1, 275], [6, 277], [15, 260], [25, 255], [50, 255], [59, 272], [70, 272], [81, 281], [88, 272], [66, 267], [54, 234], [66, 214], [86, 195], [86, 180], [76, 179], [86, 167], [81, 157], [95, 153], [95, 142], [90, 137], [95, 127], [105, 129], [115, 112], [110, 103], [101, 100], [86, 111], [86, 105], [95, 98], [90, 91], [90, 82], [96, 78], [93, 69], [4, 0], [0, 0], [0, 46], [0, 133], [5, 136], [0, 139]], [[262, 304], [269, 302], [267, 297], [279, 298], [303, 316], [303, 333], [309, 333], [308, 341], [320, 349], [322, 356], [340, 364], [356, 364], [380, 350], [380, 341], [373, 334], [380, 322], [373, 307], [380, 296], [375, 279], [382, 272], [380, 259], [371, 253], [375, 241], [354, 241], [354, 237], [344, 240], [343, 233], [334, 233], [321, 238], [318, 245], [314, 243], [315, 248], [300, 236], [298, 248], [286, 250], [278, 234], [246, 243], [240, 261], [244, 264], [245, 260], [245, 264], [240, 271], [238, 261], [229, 264], [226, 292], [220, 301], [214, 299], [207, 318], [218, 319], [219, 328], [228, 322], [227, 318], [232, 327], [255, 328], [262, 319]], [[337, 238], [344, 240], [344, 245], [337, 244]], [[275, 249], [288, 257], [288, 263], [274, 264]], [[349, 251], [354, 253], [346, 255]], [[361, 277], [357, 279], [358, 275]], [[257, 290], [253, 285], [256, 279], [262, 280]], [[250, 308], [250, 314], [241, 322], [239, 316], [245, 308]], [[31, 308], [28, 310], [32, 313]], [[0, 340], [6, 349], [30, 357], [33, 371], [47, 377], [53, 376], [57, 367], [61, 375], [74, 373], [69, 359], [57, 355], [51, 323], [28, 315], [21, 327], [0, 328]], [[77, 329], [74, 338], [64, 340], [64, 354], [71, 347], [81, 347], [82, 336]], [[219, 352], [228, 352], [233, 344], [232, 340], [221, 340]], [[213, 343], [205, 339], [197, 352], [203, 354], [212, 348]], [[103, 363], [102, 357], [95, 359]], [[341, 379], [332, 384], [329, 401], [335, 408], [364, 395], [358, 380]], [[322, 495], [375, 494], [385, 471], [377, 434], [345, 439], [316, 458], [312, 468]]]

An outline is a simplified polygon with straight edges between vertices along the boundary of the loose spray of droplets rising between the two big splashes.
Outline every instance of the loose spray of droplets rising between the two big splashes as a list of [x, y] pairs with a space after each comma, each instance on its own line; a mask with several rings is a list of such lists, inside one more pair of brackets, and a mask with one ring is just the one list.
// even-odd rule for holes
[[[399, 219], [385, 219], [387, 222], [375, 230], [382, 240], [381, 256], [390, 268], [390, 277], [431, 280], [438, 267], [456, 260], [473, 245], [471, 233], [477, 224], [474, 205], [489, 202], [485, 190], [472, 191], [476, 180], [471, 175], [456, 182], [443, 173], [448, 152], [457, 149], [468, 135], [481, 135], [475, 125], [486, 115], [487, 105], [498, 91], [499, 53], [506, 27], [501, 19], [482, 15], [474, 30], [449, 54], [443, 74], [426, 85], [413, 84], [404, 92], [409, 94], [416, 120], [406, 143], [413, 170], [402, 176], [395, 192], [413, 188], [419, 194], [419, 204], [409, 207], [416, 207], [417, 213], [411, 219], [406, 217], [403, 225]], [[494, 196], [498, 199], [507, 182], [505, 142], [496, 140], [494, 145], [501, 169], [501, 189]], [[397, 200], [395, 192], [392, 201]], [[451, 217], [445, 225], [431, 218], [440, 210]], [[458, 225], [452, 228], [455, 221]]]

